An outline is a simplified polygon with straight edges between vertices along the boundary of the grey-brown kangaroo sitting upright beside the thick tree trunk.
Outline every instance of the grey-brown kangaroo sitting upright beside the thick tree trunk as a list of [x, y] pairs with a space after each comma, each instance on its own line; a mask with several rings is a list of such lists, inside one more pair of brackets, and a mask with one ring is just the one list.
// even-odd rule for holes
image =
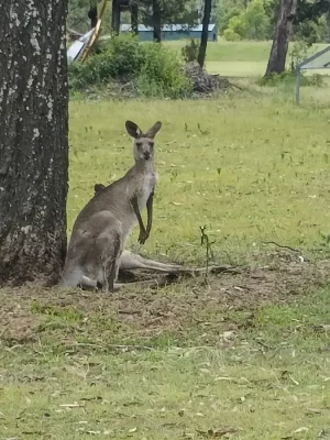
[[[95, 197], [78, 215], [69, 241], [61, 286], [102, 287], [113, 292], [120, 257], [134, 224], [139, 222], [138, 241], [144, 244], [150, 237], [153, 217], [154, 138], [162, 128], [156, 122], [146, 133], [131, 121], [125, 123], [133, 138], [134, 166], [119, 180], [103, 187], [95, 186]], [[141, 210], [146, 207], [144, 227]]]

